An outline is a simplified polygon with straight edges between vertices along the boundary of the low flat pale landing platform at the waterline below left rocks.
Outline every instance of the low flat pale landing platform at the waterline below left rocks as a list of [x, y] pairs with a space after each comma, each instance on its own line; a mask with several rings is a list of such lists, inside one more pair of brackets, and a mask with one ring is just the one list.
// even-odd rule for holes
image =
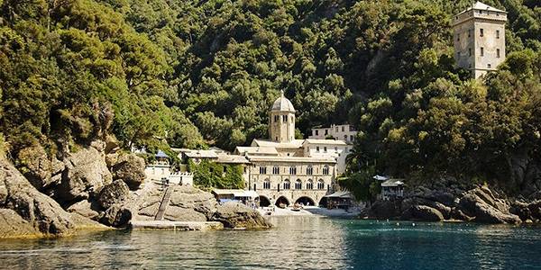
[[132, 220], [132, 229], [162, 230], [208, 230], [224, 229], [224, 224], [217, 221], [168, 221], [168, 220]]

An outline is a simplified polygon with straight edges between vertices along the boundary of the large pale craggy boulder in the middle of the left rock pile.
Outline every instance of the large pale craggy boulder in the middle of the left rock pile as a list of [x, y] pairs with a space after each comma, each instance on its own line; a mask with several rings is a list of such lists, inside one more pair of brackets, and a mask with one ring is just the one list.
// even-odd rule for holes
[[61, 183], [53, 193], [59, 202], [88, 199], [102, 186], [113, 182], [105, 158], [96, 148], [82, 148], [70, 153], [64, 159], [64, 165]]

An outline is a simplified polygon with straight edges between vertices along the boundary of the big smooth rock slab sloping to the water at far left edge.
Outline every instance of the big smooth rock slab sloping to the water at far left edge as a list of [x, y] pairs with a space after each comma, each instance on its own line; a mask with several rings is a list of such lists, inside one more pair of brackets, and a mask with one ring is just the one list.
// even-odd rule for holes
[[0, 157], [0, 185], [5, 186], [8, 194], [5, 208], [17, 212], [23, 220], [31, 223], [34, 229], [46, 235], [74, 233], [74, 224], [69, 213], [64, 211], [58, 202], [38, 192], [4, 157]]

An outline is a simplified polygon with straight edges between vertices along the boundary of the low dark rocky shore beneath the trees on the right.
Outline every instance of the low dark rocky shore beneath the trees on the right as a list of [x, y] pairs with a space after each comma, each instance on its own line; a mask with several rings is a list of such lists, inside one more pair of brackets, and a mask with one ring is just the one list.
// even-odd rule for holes
[[410, 187], [403, 198], [373, 203], [366, 216], [390, 220], [520, 224], [541, 220], [541, 200], [510, 198], [486, 185], [463, 184], [453, 177], [442, 177], [430, 184]]

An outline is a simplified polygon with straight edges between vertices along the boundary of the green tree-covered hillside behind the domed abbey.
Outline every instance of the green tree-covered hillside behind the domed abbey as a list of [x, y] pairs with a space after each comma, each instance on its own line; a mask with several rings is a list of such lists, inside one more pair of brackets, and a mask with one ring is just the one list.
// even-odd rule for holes
[[360, 130], [353, 171], [507, 174], [539, 160], [541, 3], [484, 3], [509, 12], [508, 61], [472, 81], [450, 28], [471, 1], [0, 0], [2, 151], [232, 149], [284, 90], [305, 136]]

